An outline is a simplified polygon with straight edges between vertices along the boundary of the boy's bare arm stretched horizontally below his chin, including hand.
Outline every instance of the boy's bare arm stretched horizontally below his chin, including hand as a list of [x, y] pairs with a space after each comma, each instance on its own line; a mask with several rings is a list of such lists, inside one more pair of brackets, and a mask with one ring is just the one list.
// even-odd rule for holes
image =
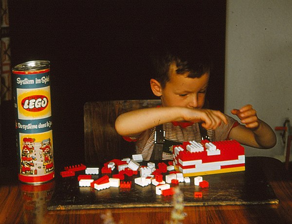
[[219, 111], [190, 109], [184, 107], [146, 108], [119, 115], [115, 122], [116, 131], [122, 136], [135, 136], [146, 129], [171, 121], [202, 122], [206, 129], [217, 128], [226, 117]]

